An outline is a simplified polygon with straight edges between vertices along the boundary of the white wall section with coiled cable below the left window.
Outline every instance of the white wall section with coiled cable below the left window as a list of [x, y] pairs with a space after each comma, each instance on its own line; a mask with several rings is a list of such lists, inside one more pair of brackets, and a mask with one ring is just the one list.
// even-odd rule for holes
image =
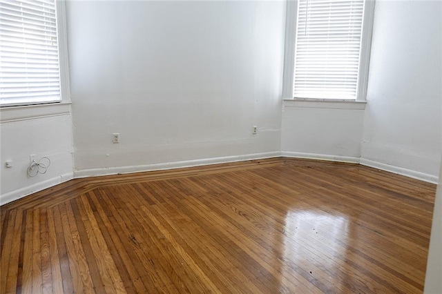
[[[2, 122], [1, 197], [4, 204], [73, 177], [72, 119], [70, 115]], [[29, 155], [49, 157], [44, 175], [28, 177]], [[12, 168], [5, 161], [12, 160]]]

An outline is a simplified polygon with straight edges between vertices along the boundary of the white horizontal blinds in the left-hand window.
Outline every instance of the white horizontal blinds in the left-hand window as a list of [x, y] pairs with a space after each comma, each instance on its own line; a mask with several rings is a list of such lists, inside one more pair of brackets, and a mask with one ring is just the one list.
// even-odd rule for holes
[[0, 0], [0, 104], [59, 100], [55, 0]]

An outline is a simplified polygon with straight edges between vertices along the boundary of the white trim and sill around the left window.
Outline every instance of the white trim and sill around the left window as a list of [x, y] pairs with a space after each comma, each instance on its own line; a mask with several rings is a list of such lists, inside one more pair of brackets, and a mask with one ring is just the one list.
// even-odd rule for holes
[[66, 34], [66, 4], [63, 0], [56, 1], [61, 101], [48, 104], [2, 106], [0, 107], [0, 121], [2, 123], [22, 119], [50, 117], [55, 114], [67, 115], [70, 113], [68, 38]]

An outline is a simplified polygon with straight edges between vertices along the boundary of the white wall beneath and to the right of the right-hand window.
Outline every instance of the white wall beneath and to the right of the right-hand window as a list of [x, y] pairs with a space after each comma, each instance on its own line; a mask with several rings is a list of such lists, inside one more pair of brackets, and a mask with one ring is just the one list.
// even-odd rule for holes
[[442, 151], [441, 7], [441, 1], [376, 1], [365, 111], [286, 101], [282, 154], [360, 161], [436, 182]]

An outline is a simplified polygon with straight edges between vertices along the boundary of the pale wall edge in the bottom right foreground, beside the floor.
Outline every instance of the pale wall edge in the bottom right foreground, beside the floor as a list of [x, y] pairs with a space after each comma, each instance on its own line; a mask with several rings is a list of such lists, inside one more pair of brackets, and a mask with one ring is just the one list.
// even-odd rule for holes
[[[442, 164], [440, 175], [442, 175]], [[439, 177], [436, 200], [434, 201], [424, 293], [442, 293], [442, 177]]]

